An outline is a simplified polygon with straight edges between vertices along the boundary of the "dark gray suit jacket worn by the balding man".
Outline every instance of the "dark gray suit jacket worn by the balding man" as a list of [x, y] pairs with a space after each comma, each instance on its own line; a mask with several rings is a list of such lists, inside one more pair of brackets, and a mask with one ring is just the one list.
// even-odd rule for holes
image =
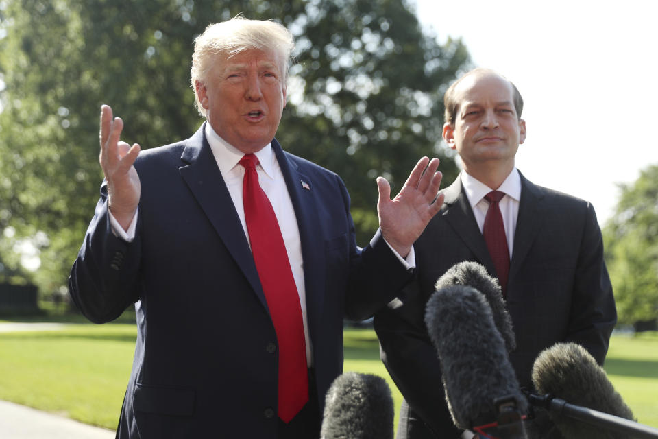
[[[507, 284], [507, 307], [517, 348], [510, 355], [521, 385], [531, 385], [539, 352], [556, 342], [576, 342], [602, 364], [617, 315], [600, 228], [592, 205], [533, 185], [521, 176], [522, 191]], [[451, 438], [439, 360], [425, 327], [425, 305], [448, 268], [476, 261], [496, 276], [461, 178], [443, 190], [441, 212], [415, 243], [417, 277], [400, 295], [404, 305], [375, 316], [375, 329], [393, 381], [411, 407], [403, 425], [433, 434], [407, 432], [402, 438]], [[398, 304], [400, 305], [400, 304]], [[415, 426], [415, 427], [414, 427]], [[418, 430], [418, 431], [420, 431]], [[400, 431], [400, 435], [405, 432]]]

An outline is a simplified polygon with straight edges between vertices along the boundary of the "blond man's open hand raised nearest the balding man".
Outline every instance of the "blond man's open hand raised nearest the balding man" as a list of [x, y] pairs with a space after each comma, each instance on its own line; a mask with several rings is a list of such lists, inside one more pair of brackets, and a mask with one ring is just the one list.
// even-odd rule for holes
[[430, 219], [441, 209], [444, 197], [437, 197], [437, 192], [443, 175], [438, 167], [438, 158], [421, 158], [393, 200], [389, 182], [377, 178], [377, 214], [382, 236], [402, 257], [409, 254]]

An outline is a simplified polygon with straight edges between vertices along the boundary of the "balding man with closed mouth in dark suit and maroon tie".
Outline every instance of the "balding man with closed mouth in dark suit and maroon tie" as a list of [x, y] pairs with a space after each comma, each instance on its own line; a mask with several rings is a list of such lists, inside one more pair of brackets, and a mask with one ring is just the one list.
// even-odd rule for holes
[[[435, 282], [461, 261], [498, 278], [513, 320], [510, 359], [521, 385], [541, 350], [575, 342], [603, 363], [616, 308], [594, 208], [533, 185], [515, 167], [526, 138], [523, 100], [507, 79], [475, 69], [444, 97], [443, 139], [463, 162], [441, 211], [415, 243], [417, 271], [375, 316], [384, 361], [404, 396], [398, 438], [458, 438], [424, 322]], [[496, 239], [498, 238], [498, 239]], [[469, 439], [472, 437], [464, 437]]]

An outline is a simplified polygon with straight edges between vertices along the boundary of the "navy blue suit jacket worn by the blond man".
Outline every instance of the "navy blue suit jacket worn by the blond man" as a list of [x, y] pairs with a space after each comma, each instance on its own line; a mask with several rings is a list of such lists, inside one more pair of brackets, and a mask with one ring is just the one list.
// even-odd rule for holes
[[[383, 239], [356, 246], [333, 172], [272, 147], [300, 230], [320, 409], [343, 370], [343, 316], [367, 318], [411, 274]], [[97, 323], [136, 302], [138, 338], [118, 438], [276, 438], [276, 333], [204, 128], [141, 152], [136, 238], [110, 230], [107, 191], [69, 281]], [[310, 189], [302, 187], [302, 181]]]

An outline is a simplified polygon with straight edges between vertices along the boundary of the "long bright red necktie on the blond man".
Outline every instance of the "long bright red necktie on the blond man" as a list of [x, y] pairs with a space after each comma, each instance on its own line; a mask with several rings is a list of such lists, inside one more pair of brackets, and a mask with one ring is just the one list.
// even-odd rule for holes
[[288, 423], [308, 401], [300, 296], [276, 215], [258, 184], [258, 158], [245, 154], [239, 163], [245, 168], [242, 197], [249, 241], [278, 341], [278, 415]]

